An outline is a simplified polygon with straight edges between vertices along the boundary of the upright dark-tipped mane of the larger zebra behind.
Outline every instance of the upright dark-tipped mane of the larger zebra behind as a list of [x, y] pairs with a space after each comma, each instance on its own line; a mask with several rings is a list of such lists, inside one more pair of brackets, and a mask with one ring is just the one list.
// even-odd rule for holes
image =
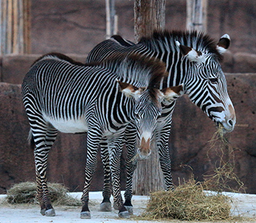
[[169, 51], [177, 51], [176, 41], [187, 47], [192, 47], [194, 50], [211, 53], [217, 60], [222, 60], [222, 55], [217, 50], [217, 42], [203, 32], [154, 31], [151, 36], [142, 37], [139, 43], [154, 50], [164, 47]]

